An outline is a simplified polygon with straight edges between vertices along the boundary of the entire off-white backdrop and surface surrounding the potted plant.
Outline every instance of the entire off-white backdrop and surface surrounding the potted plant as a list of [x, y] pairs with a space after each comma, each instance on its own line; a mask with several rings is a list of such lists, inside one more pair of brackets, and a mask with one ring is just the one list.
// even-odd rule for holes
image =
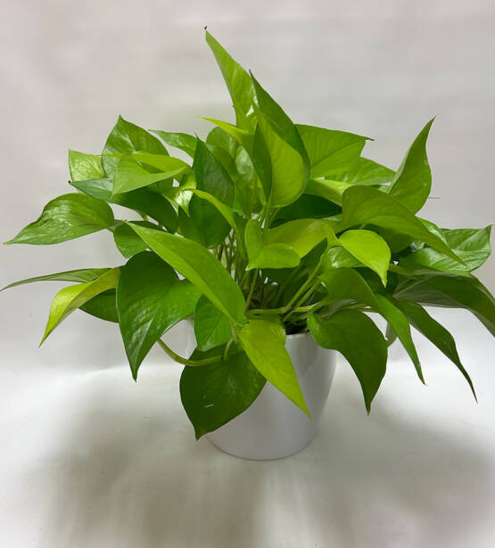
[[[70, 192], [67, 149], [98, 153], [119, 114], [206, 135], [232, 119], [204, 25], [294, 121], [375, 137], [397, 168], [433, 115], [433, 196], [446, 227], [495, 219], [495, 4], [4, 2], [0, 237]], [[0, 286], [119, 265], [109, 233], [0, 249]], [[495, 260], [479, 271], [495, 289]], [[0, 294], [0, 545], [495, 545], [493, 340], [465, 312], [435, 312], [478, 389], [420, 336], [428, 386], [399, 346], [370, 417], [340, 363], [318, 438], [280, 462], [194, 441], [177, 364], [153, 350], [135, 384], [120, 335], [76, 313], [37, 349], [58, 283]], [[177, 349], [186, 333], [169, 334]]]

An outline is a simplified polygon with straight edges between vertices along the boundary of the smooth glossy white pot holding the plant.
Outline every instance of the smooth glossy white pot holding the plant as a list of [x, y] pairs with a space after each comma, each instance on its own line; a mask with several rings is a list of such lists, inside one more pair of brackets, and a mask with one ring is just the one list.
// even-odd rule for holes
[[293, 361], [311, 419], [269, 382], [246, 411], [207, 436], [225, 453], [265, 461], [298, 453], [314, 438], [335, 372], [334, 350], [318, 347], [309, 333], [289, 335]]

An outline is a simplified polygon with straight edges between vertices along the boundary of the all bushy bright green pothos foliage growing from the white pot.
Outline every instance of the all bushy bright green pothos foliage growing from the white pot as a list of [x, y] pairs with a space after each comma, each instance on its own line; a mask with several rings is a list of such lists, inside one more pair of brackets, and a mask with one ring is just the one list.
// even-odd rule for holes
[[[235, 125], [207, 119], [214, 127], [202, 141], [119, 118], [101, 155], [69, 152], [77, 192], [50, 201], [7, 242], [106, 229], [128, 259], [12, 283], [75, 282], [55, 296], [43, 340], [77, 309], [119, 323], [135, 379], [160, 344], [185, 365], [180, 393], [197, 438], [242, 413], [267, 380], [308, 413], [285, 350], [291, 333], [309, 331], [345, 356], [368, 412], [394, 339], [424, 380], [411, 325], [474, 393], [454, 339], [423, 306], [466, 308], [495, 333], [495, 300], [471, 274], [490, 255], [491, 227], [441, 229], [417, 216], [430, 193], [433, 120], [394, 172], [361, 156], [367, 137], [294, 124], [208, 32], [206, 41]], [[111, 204], [142, 220], [115, 219]], [[384, 317], [386, 339], [367, 312]], [[186, 358], [161, 337], [191, 316], [197, 348]]]

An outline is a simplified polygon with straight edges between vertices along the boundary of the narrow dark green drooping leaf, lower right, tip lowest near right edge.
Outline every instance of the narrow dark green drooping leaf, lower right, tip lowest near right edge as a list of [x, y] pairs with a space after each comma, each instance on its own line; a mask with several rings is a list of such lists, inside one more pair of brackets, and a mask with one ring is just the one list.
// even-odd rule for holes
[[419, 331], [423, 333], [425, 337], [433, 342], [436, 348], [438, 348], [445, 356], [447, 356], [451, 362], [456, 364], [458, 370], [464, 375], [469, 387], [471, 388], [474, 399], [476, 399], [476, 393], [474, 392], [473, 382], [470, 379], [466, 369], [461, 364], [458, 356], [458, 349], [456, 348], [456, 341], [450, 335], [441, 323], [438, 323], [431, 315], [429, 315], [425, 308], [420, 307], [417, 303], [413, 303], [408, 300], [396, 301], [396, 304], [405, 315], [408, 316], [409, 322]]

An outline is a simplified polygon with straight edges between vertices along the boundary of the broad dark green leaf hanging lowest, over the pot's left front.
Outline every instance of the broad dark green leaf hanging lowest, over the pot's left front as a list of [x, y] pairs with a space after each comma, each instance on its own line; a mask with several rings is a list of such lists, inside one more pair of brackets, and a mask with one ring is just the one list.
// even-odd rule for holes
[[242, 351], [232, 352], [227, 360], [216, 364], [185, 367], [180, 378], [180, 397], [196, 439], [243, 413], [259, 396], [265, 382]]

